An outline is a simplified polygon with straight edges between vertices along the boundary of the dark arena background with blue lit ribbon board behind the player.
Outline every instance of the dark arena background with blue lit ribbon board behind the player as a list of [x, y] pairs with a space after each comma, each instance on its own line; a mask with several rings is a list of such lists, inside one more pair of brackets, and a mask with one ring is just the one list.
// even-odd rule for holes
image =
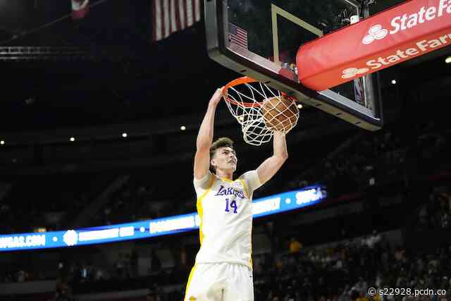
[[[183, 300], [197, 131], [240, 74], [209, 58], [203, 1], [175, 2], [0, 0], [1, 301]], [[451, 300], [451, 48], [378, 76], [381, 130], [304, 106], [255, 192], [255, 300]], [[238, 174], [271, 154], [223, 102], [215, 124]]]

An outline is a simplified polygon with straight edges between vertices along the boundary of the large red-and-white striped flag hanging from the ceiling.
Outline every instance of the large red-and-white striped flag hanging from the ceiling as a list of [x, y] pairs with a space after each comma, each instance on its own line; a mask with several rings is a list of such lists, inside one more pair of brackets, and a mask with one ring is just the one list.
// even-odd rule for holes
[[200, 20], [200, 0], [151, 0], [152, 40], [159, 41]]

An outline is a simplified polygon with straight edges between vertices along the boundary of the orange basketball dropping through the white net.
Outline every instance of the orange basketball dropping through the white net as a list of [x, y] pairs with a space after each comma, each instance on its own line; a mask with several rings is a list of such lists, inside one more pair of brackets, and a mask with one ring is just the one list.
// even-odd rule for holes
[[270, 130], [288, 133], [297, 123], [299, 110], [288, 97], [272, 97], [261, 106], [264, 123]]

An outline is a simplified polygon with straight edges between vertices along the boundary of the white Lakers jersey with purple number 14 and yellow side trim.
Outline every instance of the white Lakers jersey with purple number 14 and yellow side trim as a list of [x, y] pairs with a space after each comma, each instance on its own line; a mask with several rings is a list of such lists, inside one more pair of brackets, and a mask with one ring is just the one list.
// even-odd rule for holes
[[196, 263], [229, 262], [252, 269], [252, 194], [260, 186], [257, 171], [234, 181], [210, 172], [194, 179], [201, 219]]

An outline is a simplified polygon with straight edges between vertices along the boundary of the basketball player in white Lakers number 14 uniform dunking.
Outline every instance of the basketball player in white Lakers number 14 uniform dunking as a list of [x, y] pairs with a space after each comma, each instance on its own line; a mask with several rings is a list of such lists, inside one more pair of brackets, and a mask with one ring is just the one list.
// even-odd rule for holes
[[273, 155], [237, 179], [233, 141], [213, 142], [214, 115], [223, 89], [211, 97], [194, 156], [194, 189], [201, 219], [200, 250], [188, 278], [185, 301], [253, 301], [252, 193], [288, 158], [285, 135], [274, 133]]

